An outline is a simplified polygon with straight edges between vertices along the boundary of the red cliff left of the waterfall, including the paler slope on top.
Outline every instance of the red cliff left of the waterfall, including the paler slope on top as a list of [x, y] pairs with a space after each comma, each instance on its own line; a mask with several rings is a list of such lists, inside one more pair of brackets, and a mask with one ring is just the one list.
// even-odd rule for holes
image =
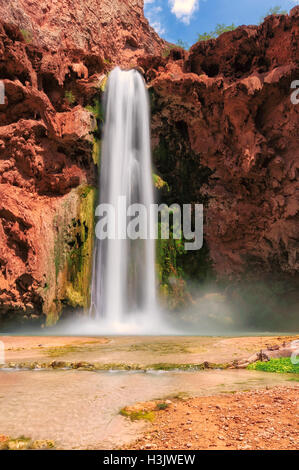
[[107, 72], [164, 42], [141, 0], [1, 0], [0, 322], [88, 307]]

